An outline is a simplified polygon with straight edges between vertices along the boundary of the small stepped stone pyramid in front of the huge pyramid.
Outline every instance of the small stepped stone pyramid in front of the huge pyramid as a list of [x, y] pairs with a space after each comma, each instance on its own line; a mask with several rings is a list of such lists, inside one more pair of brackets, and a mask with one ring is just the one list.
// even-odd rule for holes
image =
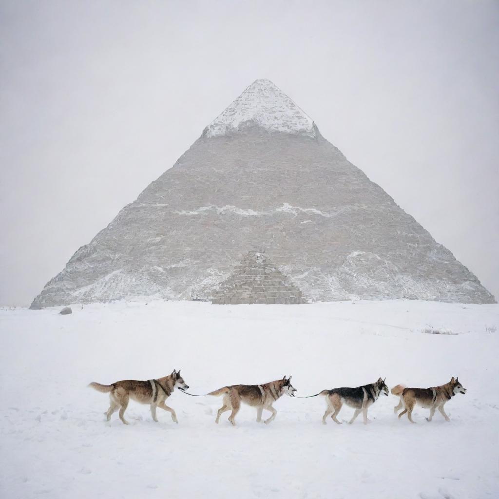
[[251, 250], [215, 291], [212, 303], [297, 305], [304, 300], [301, 291], [266, 259], [263, 251]]

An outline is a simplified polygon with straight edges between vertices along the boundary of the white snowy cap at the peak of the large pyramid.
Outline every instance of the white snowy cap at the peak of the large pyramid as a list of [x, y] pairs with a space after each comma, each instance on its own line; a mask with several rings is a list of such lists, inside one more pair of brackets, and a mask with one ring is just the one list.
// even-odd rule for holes
[[270, 80], [255, 80], [204, 130], [206, 137], [226, 135], [257, 124], [272, 132], [316, 136], [316, 127], [286, 94]]

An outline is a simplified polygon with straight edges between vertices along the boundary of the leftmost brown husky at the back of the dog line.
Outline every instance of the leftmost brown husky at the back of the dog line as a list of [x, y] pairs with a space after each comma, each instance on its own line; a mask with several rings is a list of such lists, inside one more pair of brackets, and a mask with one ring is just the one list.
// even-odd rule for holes
[[148, 381], [128, 379], [125, 381], [117, 381], [111, 385], [90, 383], [88, 386], [99, 392], [109, 393], [109, 409], [104, 413], [106, 419], [109, 421], [111, 419], [111, 414], [119, 408], [120, 419], [125, 425], [128, 425], [128, 421], [125, 420], [124, 414], [130, 399], [140, 402], [141, 404], [150, 404], [151, 415], [154, 421], [158, 422], [156, 407], [160, 407], [161, 409], [170, 412], [172, 414], [172, 420], [175, 423], [178, 423], [175, 411], [165, 404], [165, 400], [172, 394], [175, 388], [178, 388], [179, 390], [187, 390], [189, 388], [182, 379], [180, 370], [179, 372], [174, 370], [169, 376], [150, 379]]

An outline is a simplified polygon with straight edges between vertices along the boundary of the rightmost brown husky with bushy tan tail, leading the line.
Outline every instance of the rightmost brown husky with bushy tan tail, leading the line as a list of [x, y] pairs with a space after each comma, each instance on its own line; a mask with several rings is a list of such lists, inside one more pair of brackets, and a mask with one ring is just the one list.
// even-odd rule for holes
[[411, 423], [415, 423], [412, 420], [412, 411], [416, 404], [419, 404], [425, 409], [430, 409], [430, 417], [426, 418], [427, 421], [431, 421], [435, 410], [438, 409], [442, 416], [444, 416], [446, 421], [450, 421], [449, 416], [444, 411], [444, 405], [448, 400], [451, 400], [454, 395], [466, 393], [466, 388], [459, 382], [459, 379], [454, 379], [452, 377], [449, 383], [442, 386], [433, 386], [431, 388], [406, 388], [403, 385], [397, 385], [392, 388], [393, 395], [398, 395], [400, 397], [399, 405], [393, 409], [393, 412], [397, 412], [404, 408], [404, 410], [399, 414], [399, 418], [407, 413], [407, 417]]

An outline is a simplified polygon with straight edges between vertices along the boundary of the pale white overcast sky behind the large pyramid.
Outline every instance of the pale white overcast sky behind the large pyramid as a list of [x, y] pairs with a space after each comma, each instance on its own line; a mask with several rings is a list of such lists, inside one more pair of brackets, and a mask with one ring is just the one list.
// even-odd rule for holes
[[498, 1], [0, 0], [0, 304], [256, 78], [499, 297]]

